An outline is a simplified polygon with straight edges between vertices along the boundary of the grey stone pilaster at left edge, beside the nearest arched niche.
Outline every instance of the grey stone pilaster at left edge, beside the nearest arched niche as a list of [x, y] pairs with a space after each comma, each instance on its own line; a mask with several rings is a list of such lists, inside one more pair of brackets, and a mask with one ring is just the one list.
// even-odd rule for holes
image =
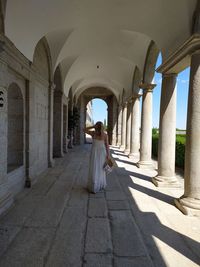
[[13, 198], [7, 185], [7, 66], [0, 61], [0, 214], [8, 209]]

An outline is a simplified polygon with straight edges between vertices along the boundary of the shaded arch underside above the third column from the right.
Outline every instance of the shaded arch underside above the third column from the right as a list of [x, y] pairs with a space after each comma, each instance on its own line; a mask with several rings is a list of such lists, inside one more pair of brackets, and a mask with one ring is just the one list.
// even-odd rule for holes
[[143, 82], [151, 83], [155, 73], [156, 61], [159, 54], [159, 49], [154, 41], [151, 41], [147, 50], [146, 60], [143, 71]]

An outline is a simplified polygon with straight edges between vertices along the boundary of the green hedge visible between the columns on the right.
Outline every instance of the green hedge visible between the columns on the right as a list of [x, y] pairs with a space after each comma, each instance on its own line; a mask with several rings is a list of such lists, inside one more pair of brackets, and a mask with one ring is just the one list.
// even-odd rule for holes
[[[152, 135], [152, 154], [153, 156], [158, 156], [158, 140], [159, 135]], [[184, 168], [185, 161], [185, 135], [177, 135], [176, 136], [176, 166], [180, 168]]]

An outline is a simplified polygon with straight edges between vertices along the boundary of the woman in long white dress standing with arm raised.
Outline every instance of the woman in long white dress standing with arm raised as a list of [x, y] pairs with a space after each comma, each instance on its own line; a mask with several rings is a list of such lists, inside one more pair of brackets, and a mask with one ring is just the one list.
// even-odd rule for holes
[[[91, 131], [94, 129], [94, 131]], [[92, 149], [90, 153], [88, 190], [97, 193], [106, 187], [106, 173], [104, 164], [110, 159], [108, 136], [104, 132], [103, 123], [98, 121], [94, 126], [86, 127], [85, 133], [92, 136]]]

